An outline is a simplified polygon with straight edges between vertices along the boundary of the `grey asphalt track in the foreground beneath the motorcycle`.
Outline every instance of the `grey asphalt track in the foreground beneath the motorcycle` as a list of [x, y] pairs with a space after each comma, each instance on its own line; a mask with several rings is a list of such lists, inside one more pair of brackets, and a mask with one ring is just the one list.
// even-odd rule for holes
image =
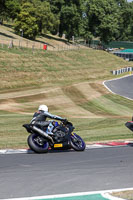
[[129, 188], [133, 147], [1, 154], [0, 199]]

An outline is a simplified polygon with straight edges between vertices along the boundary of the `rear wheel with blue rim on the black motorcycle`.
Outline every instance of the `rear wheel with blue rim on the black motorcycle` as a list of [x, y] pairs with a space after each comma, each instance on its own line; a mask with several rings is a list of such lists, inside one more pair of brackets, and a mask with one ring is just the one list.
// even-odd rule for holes
[[44, 140], [41, 136], [37, 134], [29, 135], [27, 139], [28, 145], [31, 150], [36, 153], [47, 153], [49, 148], [49, 143]]

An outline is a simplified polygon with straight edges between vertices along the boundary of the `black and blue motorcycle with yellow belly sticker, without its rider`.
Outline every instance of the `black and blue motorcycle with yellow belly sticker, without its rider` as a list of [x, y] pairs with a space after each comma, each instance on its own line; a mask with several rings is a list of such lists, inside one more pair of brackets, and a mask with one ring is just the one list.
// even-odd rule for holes
[[69, 121], [60, 124], [56, 121], [48, 121], [48, 125], [42, 130], [31, 124], [24, 124], [23, 127], [30, 133], [27, 143], [35, 153], [47, 153], [50, 148], [85, 150], [85, 142], [73, 132], [75, 128]]

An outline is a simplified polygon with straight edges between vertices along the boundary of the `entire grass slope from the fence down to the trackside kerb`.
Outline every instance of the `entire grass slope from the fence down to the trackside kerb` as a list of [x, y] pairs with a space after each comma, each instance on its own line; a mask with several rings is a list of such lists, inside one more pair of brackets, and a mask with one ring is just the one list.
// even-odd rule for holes
[[130, 100], [110, 94], [111, 70], [132, 63], [104, 51], [0, 48], [0, 148], [26, 147], [23, 123], [40, 104], [71, 120], [86, 142], [129, 139]]

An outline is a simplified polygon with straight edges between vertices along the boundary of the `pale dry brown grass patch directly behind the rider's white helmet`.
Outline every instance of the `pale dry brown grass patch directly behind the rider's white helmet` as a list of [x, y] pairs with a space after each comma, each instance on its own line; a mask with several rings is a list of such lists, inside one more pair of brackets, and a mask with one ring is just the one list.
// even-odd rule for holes
[[[17, 93], [16, 93], [17, 94]], [[97, 117], [93, 113], [84, 110], [82, 107], [78, 106], [69, 98], [64, 95], [64, 92], [60, 88], [55, 88], [53, 90], [44, 90], [44, 93], [38, 93], [29, 95], [27, 91], [27, 95], [24, 92], [21, 92], [20, 96], [14, 95], [14, 98], [8, 94], [6, 98], [9, 100], [1, 99], [0, 110], [11, 111], [16, 113], [31, 113], [32, 110], [36, 110], [39, 104], [47, 104], [52, 109], [52, 112], [58, 112], [61, 115], [65, 115], [68, 117]], [[54, 105], [54, 107], [53, 107]]]

